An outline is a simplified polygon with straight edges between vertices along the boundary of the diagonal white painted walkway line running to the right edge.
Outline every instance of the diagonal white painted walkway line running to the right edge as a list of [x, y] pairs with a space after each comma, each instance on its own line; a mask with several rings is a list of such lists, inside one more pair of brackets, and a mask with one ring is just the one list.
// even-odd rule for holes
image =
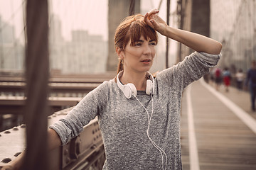
[[252, 118], [248, 113], [242, 110], [239, 106], [237, 106], [233, 101], [230, 101], [227, 97], [225, 97], [223, 94], [220, 94], [220, 92], [216, 91], [213, 87], [211, 87], [209, 84], [206, 84], [206, 81], [204, 81], [203, 78], [200, 79], [200, 82], [203, 86], [205, 86], [213, 95], [215, 95], [217, 98], [220, 99], [228, 108], [230, 108], [235, 115], [242, 120], [245, 125], [247, 125], [252, 132], [255, 132], [256, 134], [256, 120]]

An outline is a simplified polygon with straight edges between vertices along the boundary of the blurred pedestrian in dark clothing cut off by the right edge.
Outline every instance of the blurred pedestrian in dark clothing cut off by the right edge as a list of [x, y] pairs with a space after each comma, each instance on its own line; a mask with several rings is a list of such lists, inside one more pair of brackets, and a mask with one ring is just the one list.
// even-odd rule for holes
[[245, 86], [249, 87], [251, 96], [252, 111], [255, 111], [255, 98], [256, 98], [256, 61], [252, 60], [252, 66], [247, 71]]

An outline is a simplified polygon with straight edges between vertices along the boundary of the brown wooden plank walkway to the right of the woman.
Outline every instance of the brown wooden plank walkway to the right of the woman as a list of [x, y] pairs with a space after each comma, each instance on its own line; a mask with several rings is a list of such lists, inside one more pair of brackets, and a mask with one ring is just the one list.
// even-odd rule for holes
[[[248, 128], [222, 101], [210, 93], [201, 82], [194, 82], [190, 88], [199, 169], [256, 169], [255, 132]], [[232, 93], [232, 91], [234, 92], [235, 89], [230, 89], [230, 94], [225, 95], [235, 98], [234, 102], [244, 103], [249, 98], [248, 94], [242, 95]], [[195, 162], [190, 162], [194, 155], [189, 153], [188, 92], [186, 89], [183, 93], [181, 108], [181, 148], [183, 169], [194, 170], [191, 164]], [[250, 103], [243, 106], [243, 108], [247, 107], [250, 108]], [[249, 114], [252, 118], [254, 114], [256, 115], [256, 113]]]

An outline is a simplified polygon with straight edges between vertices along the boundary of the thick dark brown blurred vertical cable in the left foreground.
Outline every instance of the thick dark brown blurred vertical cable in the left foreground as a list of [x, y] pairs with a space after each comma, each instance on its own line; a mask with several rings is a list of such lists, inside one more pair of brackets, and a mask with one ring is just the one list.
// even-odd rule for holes
[[22, 169], [48, 169], [48, 1], [26, 6], [26, 153]]

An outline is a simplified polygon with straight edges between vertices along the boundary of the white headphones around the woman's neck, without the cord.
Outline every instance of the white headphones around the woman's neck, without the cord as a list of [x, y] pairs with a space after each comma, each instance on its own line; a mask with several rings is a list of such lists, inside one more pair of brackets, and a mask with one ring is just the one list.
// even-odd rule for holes
[[[137, 96], [137, 89], [134, 84], [122, 84], [119, 81], [119, 77], [122, 76], [123, 70], [117, 74], [117, 86], [124, 92], [124, 96], [126, 98], [131, 98], [132, 95]], [[149, 78], [146, 80], [146, 94], [150, 95], [151, 93], [154, 94], [154, 77], [149, 72], [146, 72], [146, 77]]]

